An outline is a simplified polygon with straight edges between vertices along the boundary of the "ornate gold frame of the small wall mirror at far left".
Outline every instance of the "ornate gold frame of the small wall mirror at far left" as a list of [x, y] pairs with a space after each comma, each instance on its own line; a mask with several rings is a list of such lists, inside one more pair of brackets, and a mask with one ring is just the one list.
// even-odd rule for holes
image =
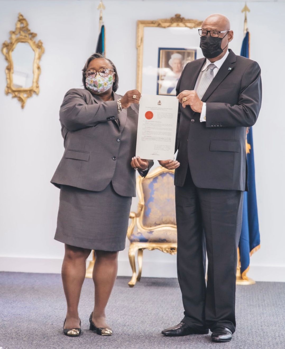
[[[41, 40], [35, 41], [36, 33], [33, 33], [29, 29], [29, 24], [26, 18], [19, 13], [18, 20], [16, 22], [15, 31], [10, 31], [10, 42], [5, 41], [2, 44], [2, 53], [5, 56], [8, 65], [6, 66], [6, 78], [7, 86], [5, 88], [5, 94], [12, 94], [12, 98], [17, 98], [21, 103], [21, 107], [24, 108], [26, 101], [34, 93], [37, 95], [40, 92], [40, 87], [38, 85], [38, 79], [41, 73], [40, 59], [44, 53], [44, 47]], [[35, 52], [35, 58], [33, 62], [33, 83], [29, 88], [15, 88], [13, 87], [13, 72], [14, 65], [12, 59], [12, 52], [14, 51], [18, 43], [28, 43], [33, 51]]]

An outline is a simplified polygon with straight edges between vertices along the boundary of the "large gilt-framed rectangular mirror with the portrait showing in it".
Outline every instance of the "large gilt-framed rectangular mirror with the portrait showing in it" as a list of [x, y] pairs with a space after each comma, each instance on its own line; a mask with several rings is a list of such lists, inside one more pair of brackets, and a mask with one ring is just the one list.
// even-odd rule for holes
[[204, 57], [198, 28], [202, 21], [174, 17], [137, 21], [137, 89], [142, 94], [175, 96], [187, 62]]

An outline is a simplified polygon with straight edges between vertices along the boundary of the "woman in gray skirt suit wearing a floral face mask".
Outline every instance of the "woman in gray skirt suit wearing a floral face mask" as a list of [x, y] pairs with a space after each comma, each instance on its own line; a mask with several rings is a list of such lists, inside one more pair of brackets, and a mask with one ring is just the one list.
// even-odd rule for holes
[[62, 280], [67, 302], [64, 334], [79, 336], [78, 303], [86, 259], [95, 251], [95, 304], [90, 329], [111, 335], [105, 307], [125, 247], [135, 170], [152, 161], [135, 156], [140, 92], [117, 95], [116, 67], [100, 54], [83, 68], [84, 89], [71, 89], [59, 111], [64, 154], [51, 183], [60, 188], [55, 239], [65, 244]]

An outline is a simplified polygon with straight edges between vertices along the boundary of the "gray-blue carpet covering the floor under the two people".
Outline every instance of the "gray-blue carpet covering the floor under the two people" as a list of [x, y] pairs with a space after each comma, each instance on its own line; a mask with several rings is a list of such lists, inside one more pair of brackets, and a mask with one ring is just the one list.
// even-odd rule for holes
[[83, 285], [79, 313], [83, 333], [62, 333], [65, 299], [60, 275], [0, 273], [0, 347], [3, 349], [150, 349], [150, 348], [285, 348], [285, 283], [238, 286], [237, 331], [229, 343], [212, 343], [210, 335], [164, 337], [160, 331], [183, 314], [176, 279], [142, 278], [134, 288], [118, 277], [107, 316], [114, 334], [88, 330], [93, 308], [93, 282]]

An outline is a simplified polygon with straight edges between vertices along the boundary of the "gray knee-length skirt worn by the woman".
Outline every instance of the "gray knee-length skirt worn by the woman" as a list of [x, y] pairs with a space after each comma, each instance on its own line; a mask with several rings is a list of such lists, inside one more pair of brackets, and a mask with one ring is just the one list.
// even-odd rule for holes
[[112, 183], [101, 192], [62, 185], [55, 240], [91, 250], [124, 250], [131, 199], [117, 194]]

